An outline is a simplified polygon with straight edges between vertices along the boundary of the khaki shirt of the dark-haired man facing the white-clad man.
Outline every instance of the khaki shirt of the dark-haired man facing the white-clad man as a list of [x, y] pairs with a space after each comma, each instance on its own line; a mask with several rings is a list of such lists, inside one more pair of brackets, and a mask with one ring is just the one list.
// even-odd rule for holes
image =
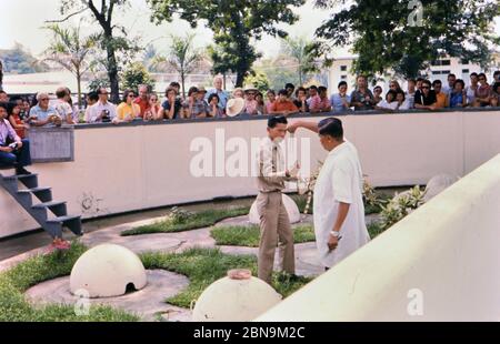
[[259, 148], [257, 185], [260, 192], [274, 192], [284, 189], [287, 170], [284, 158], [279, 144], [267, 138]]

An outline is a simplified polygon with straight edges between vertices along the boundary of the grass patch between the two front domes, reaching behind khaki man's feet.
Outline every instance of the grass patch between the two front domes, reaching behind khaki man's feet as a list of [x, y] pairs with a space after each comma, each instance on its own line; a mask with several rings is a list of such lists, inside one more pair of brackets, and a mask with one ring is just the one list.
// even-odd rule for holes
[[[229, 255], [218, 249], [191, 249], [183, 253], [144, 253], [141, 255], [146, 269], [162, 269], [186, 275], [190, 285], [166, 302], [188, 308], [193, 300], [213, 282], [227, 275], [232, 269], [249, 269], [257, 276], [257, 257], [253, 255]], [[310, 279], [290, 279], [274, 273], [272, 286], [284, 297], [299, 290]]]

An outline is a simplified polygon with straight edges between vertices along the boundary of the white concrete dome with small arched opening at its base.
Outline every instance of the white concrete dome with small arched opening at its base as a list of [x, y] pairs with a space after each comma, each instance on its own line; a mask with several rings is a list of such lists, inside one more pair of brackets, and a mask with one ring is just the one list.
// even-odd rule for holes
[[146, 270], [132, 251], [119, 245], [103, 244], [87, 251], [71, 271], [72, 294], [86, 291], [92, 299], [120, 296], [130, 284], [143, 289]]

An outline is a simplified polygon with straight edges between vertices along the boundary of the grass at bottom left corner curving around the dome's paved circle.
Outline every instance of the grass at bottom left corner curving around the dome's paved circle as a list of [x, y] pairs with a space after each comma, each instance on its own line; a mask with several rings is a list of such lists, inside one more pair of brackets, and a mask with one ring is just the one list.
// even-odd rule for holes
[[71, 305], [33, 306], [23, 293], [41, 282], [66, 276], [87, 249], [73, 243], [66, 252], [29, 259], [0, 274], [1, 322], [130, 322], [139, 317], [109, 306], [91, 306], [89, 315], [77, 316]]

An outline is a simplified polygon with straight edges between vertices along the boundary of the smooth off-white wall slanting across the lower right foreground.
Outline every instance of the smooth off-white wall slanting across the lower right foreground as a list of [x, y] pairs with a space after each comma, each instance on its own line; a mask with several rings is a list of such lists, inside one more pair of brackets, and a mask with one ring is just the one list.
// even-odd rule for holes
[[500, 321], [499, 171], [500, 154], [258, 321]]

